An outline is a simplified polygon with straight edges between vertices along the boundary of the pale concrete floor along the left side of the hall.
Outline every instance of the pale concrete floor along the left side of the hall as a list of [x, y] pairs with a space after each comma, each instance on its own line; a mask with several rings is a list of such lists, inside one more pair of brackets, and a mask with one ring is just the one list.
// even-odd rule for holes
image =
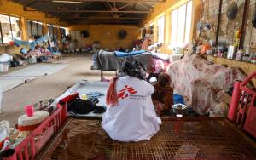
[[[55, 98], [61, 95], [68, 86], [82, 79], [100, 81], [100, 71], [90, 70], [91, 56], [64, 57], [58, 63], [68, 64], [66, 68], [55, 74], [38, 77], [32, 82], [21, 84], [3, 93], [2, 114], [0, 120], [8, 120], [11, 126], [17, 123], [17, 117], [23, 114], [24, 106], [37, 103], [39, 100]], [[105, 74], [104, 74], [105, 75]], [[113, 77], [108, 72], [108, 78]]]

